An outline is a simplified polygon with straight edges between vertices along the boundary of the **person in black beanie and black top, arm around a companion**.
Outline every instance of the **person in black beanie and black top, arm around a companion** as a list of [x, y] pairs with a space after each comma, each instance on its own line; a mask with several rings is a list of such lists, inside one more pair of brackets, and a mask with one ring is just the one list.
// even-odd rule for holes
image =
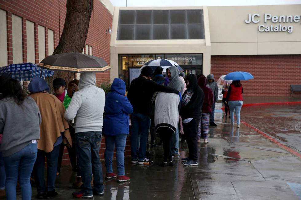
[[[145, 157], [147, 134], [151, 125], [151, 98], [154, 92], [170, 92], [179, 94], [176, 89], [163, 86], [151, 80], [153, 69], [145, 66], [138, 78], [135, 78], [128, 89], [127, 98], [132, 104], [134, 111], [131, 114], [131, 156], [132, 163], [150, 164], [153, 161]], [[138, 134], [140, 136], [139, 155], [137, 155]]]

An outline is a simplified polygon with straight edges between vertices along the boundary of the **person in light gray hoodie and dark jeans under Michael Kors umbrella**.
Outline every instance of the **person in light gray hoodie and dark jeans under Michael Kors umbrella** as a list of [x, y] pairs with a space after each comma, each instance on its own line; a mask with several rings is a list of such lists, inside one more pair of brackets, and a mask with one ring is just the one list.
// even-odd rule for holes
[[[103, 195], [103, 174], [99, 157], [102, 136], [105, 93], [96, 87], [95, 73], [80, 75], [79, 88], [65, 112], [65, 119], [75, 118], [75, 137], [78, 167], [82, 177], [81, 191], [72, 193], [75, 198], [93, 198]], [[92, 174], [93, 189], [91, 186]]]

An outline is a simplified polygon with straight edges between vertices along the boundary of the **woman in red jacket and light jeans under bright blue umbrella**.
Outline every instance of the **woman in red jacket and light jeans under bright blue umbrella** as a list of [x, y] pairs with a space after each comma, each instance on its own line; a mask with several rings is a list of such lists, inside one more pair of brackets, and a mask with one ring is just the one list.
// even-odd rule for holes
[[229, 104], [231, 124], [234, 125], [234, 111], [236, 115], [236, 127], [239, 128], [240, 109], [243, 104], [242, 93], [244, 92], [240, 81], [233, 81], [229, 87], [226, 102]]

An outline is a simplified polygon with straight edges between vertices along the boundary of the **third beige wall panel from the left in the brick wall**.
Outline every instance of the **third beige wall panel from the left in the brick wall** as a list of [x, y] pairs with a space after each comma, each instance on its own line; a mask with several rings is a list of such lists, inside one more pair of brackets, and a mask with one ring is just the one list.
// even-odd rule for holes
[[34, 23], [26, 20], [27, 62], [35, 63]]

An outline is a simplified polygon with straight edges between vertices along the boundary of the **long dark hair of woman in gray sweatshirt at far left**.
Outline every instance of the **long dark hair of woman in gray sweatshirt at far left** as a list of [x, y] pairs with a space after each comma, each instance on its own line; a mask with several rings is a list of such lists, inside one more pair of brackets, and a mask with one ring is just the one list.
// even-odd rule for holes
[[19, 81], [13, 78], [5, 78], [4, 81], [0, 81], [0, 88], [0, 92], [3, 93], [4, 98], [12, 97], [18, 105], [21, 105], [26, 98], [26, 94], [22, 90]]

